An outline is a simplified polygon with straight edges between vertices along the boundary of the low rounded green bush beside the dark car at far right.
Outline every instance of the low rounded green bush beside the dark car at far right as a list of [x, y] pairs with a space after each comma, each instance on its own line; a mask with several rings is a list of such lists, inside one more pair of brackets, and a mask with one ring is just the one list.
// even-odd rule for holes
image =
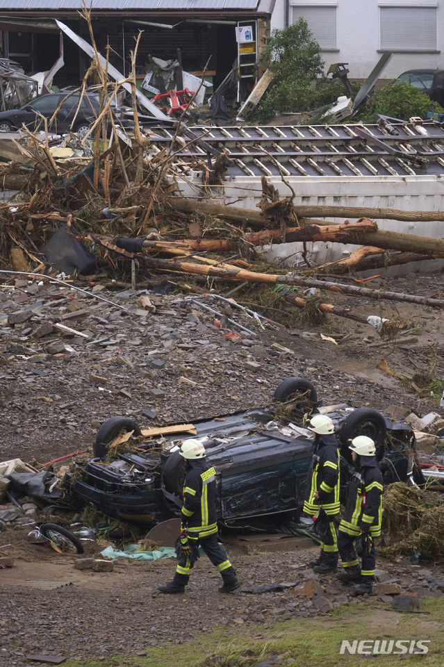
[[365, 123], [375, 122], [375, 113], [381, 113], [400, 120], [409, 120], [412, 116], [425, 118], [428, 111], [444, 113], [441, 104], [420, 92], [410, 83], [399, 81], [388, 83], [378, 90], [375, 97], [368, 104], [365, 102], [353, 120], [362, 120]]

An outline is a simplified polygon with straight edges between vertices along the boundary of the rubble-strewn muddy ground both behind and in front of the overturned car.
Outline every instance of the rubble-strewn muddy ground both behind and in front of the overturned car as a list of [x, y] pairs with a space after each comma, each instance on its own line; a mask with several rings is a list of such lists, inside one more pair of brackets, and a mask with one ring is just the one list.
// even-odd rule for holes
[[[367, 286], [440, 297], [444, 276], [376, 279]], [[60, 286], [42, 288], [34, 295], [26, 289], [26, 285], [0, 288], [0, 461], [19, 457], [45, 463], [83, 450], [94, 440], [100, 423], [113, 415], [131, 415], [146, 427], [265, 406], [279, 381], [290, 376], [310, 379], [324, 404], [348, 402], [381, 410], [397, 404], [417, 413], [443, 413], [429, 396], [421, 397], [409, 384], [375, 368], [386, 359], [393, 371], [404, 376], [434, 368], [434, 377], [443, 377], [443, 311], [428, 306], [327, 293], [325, 300], [330, 303], [352, 306], [366, 316], [409, 320], [418, 331], [386, 344], [370, 325], [334, 316], [318, 327], [296, 322], [290, 330], [263, 331], [245, 316], [238, 318], [235, 311], [233, 318], [256, 332], [242, 341], [224, 337], [228, 329], [217, 329], [213, 315], [196, 304], [181, 307], [177, 295], [158, 297], [156, 314], [144, 315], [122, 309], [135, 309], [138, 297], [131, 293], [99, 293], [120, 305], [115, 307]], [[57, 330], [35, 336], [37, 327], [56, 324], [76, 308], [85, 311], [84, 319], [64, 323], [88, 338], [60, 336]], [[8, 324], [10, 315], [24, 311], [28, 311], [26, 321], [15, 327]], [[30, 312], [32, 317], [27, 318]], [[352, 336], [335, 345], [321, 333]], [[51, 354], [54, 347], [48, 346], [60, 341], [72, 352]], [[259, 368], [245, 368], [249, 361]], [[155, 389], [161, 390], [161, 397], [153, 397]], [[156, 418], [142, 410], [154, 411]], [[186, 595], [170, 598], [157, 593], [156, 586], [170, 580], [174, 559], [152, 564], [117, 561], [113, 573], [81, 572], [74, 570], [76, 557], [28, 544], [27, 530], [10, 525], [0, 532], [0, 547], [11, 545], [0, 555], [15, 557], [14, 568], [0, 570], [1, 666], [22, 667], [29, 664], [26, 655], [42, 650], [67, 651], [80, 663], [99, 657], [106, 664], [110, 655], [142, 655], [165, 641], [204, 642], [204, 633], [221, 625], [229, 634], [241, 625], [321, 613], [308, 600], [295, 598], [293, 588], [263, 595], [239, 591], [222, 595], [217, 592], [220, 577], [204, 558], [197, 563]], [[312, 547], [235, 554], [233, 561], [245, 586], [299, 582], [313, 576], [306, 563], [314, 553]], [[441, 577], [437, 570], [433, 575], [422, 572], [424, 567], [433, 569], [428, 564], [418, 568], [405, 560], [392, 564], [379, 560], [379, 567], [399, 579], [406, 591], [428, 591], [430, 577]], [[38, 582], [72, 585], [39, 588]], [[343, 597], [347, 590], [332, 577], [319, 583], [333, 606], [354, 604]]]

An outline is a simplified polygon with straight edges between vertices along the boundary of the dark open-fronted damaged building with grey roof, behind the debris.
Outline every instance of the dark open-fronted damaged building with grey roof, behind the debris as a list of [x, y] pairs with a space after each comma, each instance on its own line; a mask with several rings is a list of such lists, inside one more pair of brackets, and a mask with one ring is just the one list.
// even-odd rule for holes
[[[248, 26], [252, 35], [251, 45], [247, 45], [251, 54], [248, 67], [254, 65], [255, 79], [261, 74], [261, 52], [270, 36], [274, 0], [87, 1], [87, 6], [90, 4], [97, 48], [105, 56], [109, 44], [110, 63], [124, 75], [131, 69], [135, 39], [143, 31], [136, 61], [138, 72], [145, 72], [150, 56], [175, 59], [177, 49], [181, 49], [183, 69], [199, 74], [208, 63], [207, 70], [217, 87], [239, 60], [239, 26]], [[0, 0], [3, 57], [16, 60], [26, 74], [49, 69], [60, 53], [54, 19], [90, 40], [88, 25], [80, 16], [82, 7], [82, 0]], [[90, 60], [66, 37], [64, 47], [65, 65], [56, 74], [55, 83], [76, 85]]]

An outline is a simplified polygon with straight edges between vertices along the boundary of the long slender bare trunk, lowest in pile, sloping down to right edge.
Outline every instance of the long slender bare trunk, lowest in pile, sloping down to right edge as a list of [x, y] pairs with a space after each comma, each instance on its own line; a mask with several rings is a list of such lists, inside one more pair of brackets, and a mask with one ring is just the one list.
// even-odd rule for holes
[[204, 266], [174, 259], [157, 259], [147, 257], [147, 264], [158, 270], [177, 271], [183, 273], [217, 276], [227, 280], [247, 280], [253, 283], [274, 283], [283, 285], [301, 285], [304, 287], [316, 287], [320, 290], [329, 290], [340, 294], [349, 294], [356, 297], [369, 297], [370, 299], [386, 299], [388, 301], [402, 301], [411, 304], [431, 306], [431, 308], [444, 308], [444, 301], [429, 299], [411, 294], [397, 292], [379, 292], [365, 287], [344, 285], [343, 283], [332, 283], [328, 281], [315, 280], [303, 276], [285, 275], [280, 276], [270, 273], [254, 273], [245, 269], [223, 269], [215, 266]]

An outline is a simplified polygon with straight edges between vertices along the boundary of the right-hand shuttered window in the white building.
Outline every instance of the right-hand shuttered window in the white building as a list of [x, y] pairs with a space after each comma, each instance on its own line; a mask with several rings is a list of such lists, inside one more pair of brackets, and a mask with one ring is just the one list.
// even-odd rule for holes
[[379, 6], [381, 49], [436, 51], [436, 6]]

